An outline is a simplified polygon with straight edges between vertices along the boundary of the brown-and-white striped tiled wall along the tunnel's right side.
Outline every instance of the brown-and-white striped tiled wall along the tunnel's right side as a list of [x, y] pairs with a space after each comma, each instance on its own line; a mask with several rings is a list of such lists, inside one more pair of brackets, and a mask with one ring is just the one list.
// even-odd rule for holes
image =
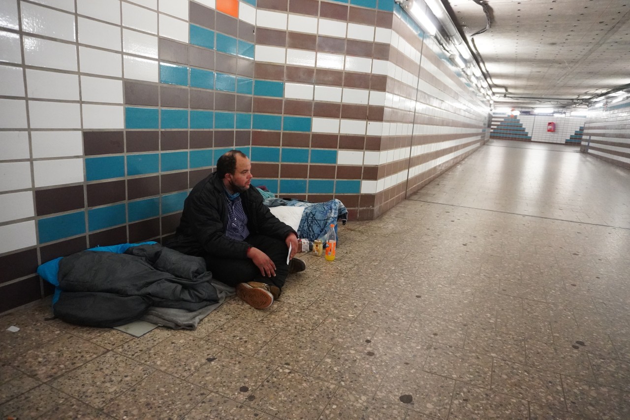
[[588, 112], [581, 151], [630, 168], [630, 96], [591, 107]]

